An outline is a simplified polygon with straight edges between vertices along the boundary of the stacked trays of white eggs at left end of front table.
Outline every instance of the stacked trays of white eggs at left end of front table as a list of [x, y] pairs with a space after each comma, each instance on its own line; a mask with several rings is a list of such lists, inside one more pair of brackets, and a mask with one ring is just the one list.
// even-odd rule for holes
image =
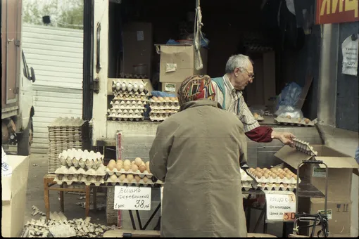
[[99, 186], [104, 183], [106, 167], [103, 165], [103, 155], [87, 150], [64, 150], [58, 155], [61, 167], [56, 169], [54, 181], [58, 184], [85, 183], [90, 186], [94, 183]]

